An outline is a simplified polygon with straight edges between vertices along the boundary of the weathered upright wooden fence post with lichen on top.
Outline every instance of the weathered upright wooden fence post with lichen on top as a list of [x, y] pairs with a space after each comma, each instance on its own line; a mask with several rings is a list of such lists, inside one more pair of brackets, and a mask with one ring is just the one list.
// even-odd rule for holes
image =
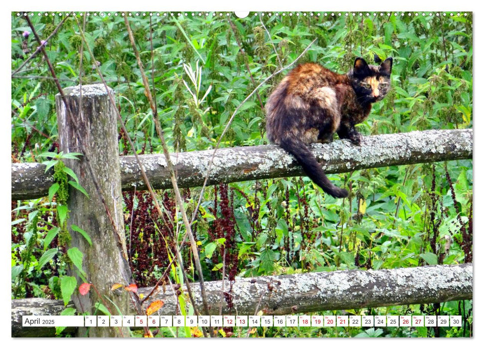
[[[114, 93], [111, 89], [110, 92]], [[131, 279], [124, 235], [116, 111], [102, 84], [84, 85], [82, 90], [79, 86], [65, 88], [64, 98], [57, 94], [55, 102], [61, 150], [84, 154], [80, 161], [64, 160], [64, 163], [89, 194], [86, 197], [72, 187], [69, 190], [70, 246], [83, 253], [87, 281], [99, 291], [111, 314], [120, 315], [107, 298], [123, 314], [128, 314], [128, 292], [111, 291], [113, 284], [128, 284]], [[70, 228], [73, 224], [89, 234], [92, 246]], [[74, 267], [71, 272], [80, 285], [83, 281]], [[76, 291], [72, 300], [78, 312], [90, 315], [94, 315], [95, 304], [100, 301], [93, 288], [86, 296]], [[96, 315], [104, 314], [98, 311]], [[86, 336], [87, 329], [80, 328], [78, 336]], [[127, 328], [115, 327], [91, 327], [87, 335], [129, 337]]]

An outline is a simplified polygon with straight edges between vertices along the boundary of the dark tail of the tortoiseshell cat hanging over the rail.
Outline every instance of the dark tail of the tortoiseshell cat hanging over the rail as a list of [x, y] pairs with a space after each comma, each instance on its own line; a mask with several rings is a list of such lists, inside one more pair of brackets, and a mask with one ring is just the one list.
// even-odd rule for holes
[[306, 144], [291, 139], [283, 139], [280, 141], [280, 146], [286, 152], [294, 155], [308, 177], [318, 184], [325, 193], [334, 197], [348, 196], [346, 189], [338, 188], [326, 177], [321, 165]]

